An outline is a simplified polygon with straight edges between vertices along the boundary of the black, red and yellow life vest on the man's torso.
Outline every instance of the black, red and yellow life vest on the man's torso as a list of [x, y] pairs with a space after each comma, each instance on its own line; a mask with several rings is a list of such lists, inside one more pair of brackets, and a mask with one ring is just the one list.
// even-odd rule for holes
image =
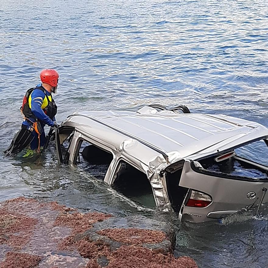
[[55, 104], [55, 101], [52, 98], [52, 94], [50, 94], [50, 96], [47, 95], [47, 91], [44, 89], [43, 86], [36, 86], [36, 87], [32, 87], [30, 89], [28, 89], [26, 91], [25, 96], [23, 97], [23, 102], [22, 102], [22, 106], [20, 107], [21, 112], [23, 113], [23, 115], [25, 116], [25, 118], [35, 118], [35, 120], [37, 121], [36, 116], [33, 114], [32, 110], [31, 110], [31, 93], [33, 92], [33, 90], [35, 89], [40, 89], [44, 92], [45, 94], [45, 98], [44, 101], [41, 105], [42, 110], [44, 111], [44, 113], [51, 119], [53, 120], [53, 118], [55, 117], [55, 115], [57, 114], [57, 105]]

